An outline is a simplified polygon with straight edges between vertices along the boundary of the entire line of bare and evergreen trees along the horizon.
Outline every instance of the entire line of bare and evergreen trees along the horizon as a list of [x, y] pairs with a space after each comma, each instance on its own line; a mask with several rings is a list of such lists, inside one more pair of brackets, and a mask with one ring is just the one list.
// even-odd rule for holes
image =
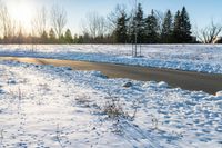
[[32, 29], [24, 33], [9, 14], [7, 6], [0, 1], [0, 43], [212, 43], [222, 42], [218, 38], [222, 26], [213, 21], [204, 29], [192, 28], [189, 12], [183, 7], [175, 13], [171, 10], [160, 12], [151, 10], [144, 13], [142, 4], [128, 11], [118, 4], [107, 17], [90, 12], [82, 21], [81, 34], [72, 36], [65, 29], [67, 11], [52, 6], [39, 9], [32, 18]]

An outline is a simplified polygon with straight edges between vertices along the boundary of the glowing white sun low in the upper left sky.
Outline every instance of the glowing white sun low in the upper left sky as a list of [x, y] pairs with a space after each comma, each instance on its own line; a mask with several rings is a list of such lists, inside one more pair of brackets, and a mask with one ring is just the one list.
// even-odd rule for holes
[[9, 13], [11, 18], [22, 26], [23, 28], [31, 27], [31, 20], [33, 18], [34, 8], [33, 4], [28, 1], [13, 1], [9, 3]]

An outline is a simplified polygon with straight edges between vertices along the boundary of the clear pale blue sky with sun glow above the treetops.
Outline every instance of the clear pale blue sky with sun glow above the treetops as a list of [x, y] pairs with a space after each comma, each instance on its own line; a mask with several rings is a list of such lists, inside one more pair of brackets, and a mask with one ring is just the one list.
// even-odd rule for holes
[[[133, 0], [2, 0], [7, 3], [9, 12], [16, 20], [29, 28], [31, 18], [38, 9], [46, 7], [48, 10], [53, 4], [63, 7], [68, 13], [68, 24], [73, 33], [81, 32], [82, 20], [90, 12], [98, 12], [107, 16], [114, 10], [118, 3], [125, 4], [130, 10]], [[222, 0], [138, 0], [143, 4], [144, 14], [149, 14], [151, 9], [165, 12], [168, 9], [174, 13], [183, 6], [190, 14], [193, 28], [203, 28], [211, 20], [222, 23]]]

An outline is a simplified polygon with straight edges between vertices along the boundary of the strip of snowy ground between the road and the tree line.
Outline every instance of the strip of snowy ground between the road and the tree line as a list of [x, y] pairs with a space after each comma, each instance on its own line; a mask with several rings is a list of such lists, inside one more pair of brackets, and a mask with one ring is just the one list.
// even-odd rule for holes
[[130, 45], [1, 46], [0, 56], [56, 58], [222, 73], [220, 45], [143, 45], [132, 58]]

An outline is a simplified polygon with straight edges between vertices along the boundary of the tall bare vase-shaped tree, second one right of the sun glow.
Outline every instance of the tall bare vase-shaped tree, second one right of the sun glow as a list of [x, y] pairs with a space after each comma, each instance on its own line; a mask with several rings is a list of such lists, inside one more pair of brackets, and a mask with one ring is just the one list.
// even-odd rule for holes
[[61, 38], [62, 31], [67, 24], [67, 12], [59, 6], [53, 6], [51, 9], [51, 23], [58, 38]]

